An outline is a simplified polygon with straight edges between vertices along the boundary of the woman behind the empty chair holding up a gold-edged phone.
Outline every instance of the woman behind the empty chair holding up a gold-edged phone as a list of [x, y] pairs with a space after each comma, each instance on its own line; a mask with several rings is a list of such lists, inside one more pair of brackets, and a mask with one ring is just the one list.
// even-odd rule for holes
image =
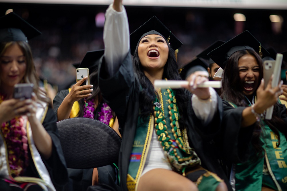
[[[61, 90], [53, 100], [54, 112], [58, 121], [73, 118], [85, 117], [104, 122], [113, 128], [119, 136], [119, 124], [115, 112], [104, 102], [98, 85], [98, 64], [104, 50], [89, 51], [86, 53], [81, 64], [78, 66], [84, 71], [87, 68], [90, 72], [89, 85], [83, 85], [88, 79], [88, 74], [69, 89]], [[80, 72], [81, 69], [79, 69]], [[78, 77], [77, 77], [78, 79]], [[97, 145], [95, 145], [96, 147]], [[88, 186], [99, 183], [109, 183], [110, 186], [118, 187], [117, 167], [113, 164], [94, 169], [70, 169], [68, 168], [70, 184], [64, 190], [83, 190]], [[113, 181], [110, 181], [113, 180]]]

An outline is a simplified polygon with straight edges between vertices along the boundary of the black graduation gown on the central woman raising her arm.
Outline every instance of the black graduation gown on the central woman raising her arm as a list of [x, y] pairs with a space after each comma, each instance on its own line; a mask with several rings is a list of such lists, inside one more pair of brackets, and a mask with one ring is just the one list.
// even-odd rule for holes
[[[99, 84], [102, 96], [105, 102], [113, 111], [115, 111], [119, 120], [119, 130], [122, 135], [119, 153], [121, 189], [127, 190], [126, 180], [130, 160], [129, 157], [138, 120], [140, 84], [133, 72], [130, 54], [127, 54], [118, 71], [112, 77], [106, 72], [104, 58], [102, 58], [99, 68]], [[188, 104], [191, 106], [191, 93], [186, 91], [186, 94], [189, 96]], [[238, 136], [236, 137], [236, 132], [239, 131], [240, 126], [233, 125], [234, 129], [230, 129], [230, 126], [223, 128], [221, 125], [224, 118], [223, 104], [219, 96], [218, 111], [212, 122], [207, 126], [202, 125], [201, 121], [195, 116], [192, 107], [189, 107], [186, 112], [189, 114], [187, 121], [189, 124], [187, 128], [189, 144], [195, 149], [197, 155], [201, 159], [202, 166], [209, 171], [216, 173], [225, 181], [228, 190], [232, 190], [218, 159], [221, 159], [223, 153], [228, 153], [232, 150], [230, 148], [237, 144]], [[240, 110], [238, 110], [238, 112], [240, 112]], [[230, 123], [233, 124], [232, 119], [227, 122], [227, 124]], [[230, 132], [235, 134], [232, 135], [232, 139], [229, 138]], [[226, 146], [227, 148], [225, 148]], [[228, 159], [234, 158], [237, 161], [241, 161], [241, 156], [237, 153], [233, 155], [234, 152], [232, 151], [232, 154], [229, 153], [224, 156], [228, 157]]]

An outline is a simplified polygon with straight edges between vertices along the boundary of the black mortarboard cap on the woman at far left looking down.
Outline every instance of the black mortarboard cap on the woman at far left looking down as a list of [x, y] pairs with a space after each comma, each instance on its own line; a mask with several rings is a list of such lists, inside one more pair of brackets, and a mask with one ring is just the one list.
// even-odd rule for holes
[[41, 32], [13, 12], [0, 17], [0, 42], [27, 41], [40, 34]]

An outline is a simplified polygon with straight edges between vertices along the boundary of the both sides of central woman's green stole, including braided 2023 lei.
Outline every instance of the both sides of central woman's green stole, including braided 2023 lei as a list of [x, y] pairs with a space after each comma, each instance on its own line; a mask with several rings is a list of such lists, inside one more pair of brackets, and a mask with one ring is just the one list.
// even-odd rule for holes
[[153, 128], [156, 128], [165, 159], [172, 169], [184, 173], [187, 166], [200, 164], [200, 159], [187, 142], [187, 132], [179, 129], [179, 114], [175, 95], [172, 89], [159, 91], [154, 100], [154, 113], [147, 118], [138, 118], [137, 129], [130, 155], [127, 174], [128, 190], [136, 190], [150, 147]]

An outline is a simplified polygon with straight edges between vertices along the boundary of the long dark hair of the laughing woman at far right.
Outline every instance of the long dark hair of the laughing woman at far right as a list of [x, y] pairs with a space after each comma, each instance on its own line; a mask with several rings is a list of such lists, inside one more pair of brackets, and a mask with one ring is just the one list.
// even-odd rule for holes
[[[258, 79], [259, 83], [257, 87], [255, 87], [256, 90], [258, 89], [260, 81], [263, 77], [263, 66], [260, 56], [254, 50], [238, 50], [237, 52], [235, 52], [230, 56], [224, 68], [222, 76], [222, 87], [221, 87], [222, 99], [227, 100], [228, 102], [232, 102], [237, 106], [245, 106], [245, 107], [248, 107], [249, 103], [246, 100], [245, 95], [243, 93], [243, 84], [241, 83], [241, 79], [239, 77], [238, 61], [242, 56], [247, 54], [254, 56], [259, 66], [259, 79]], [[256, 91], [254, 91], [254, 95], [256, 95]], [[285, 136], [287, 135], [286, 124], [284, 120], [280, 118], [279, 114], [280, 114], [280, 105], [279, 103], [276, 103], [272, 119], [264, 120], [265, 123], [270, 127], [270, 129], [278, 136], [277, 147], [279, 147], [280, 145], [279, 131], [283, 132]], [[263, 127], [261, 127], [259, 122], [256, 122], [251, 140], [251, 143], [259, 156], [263, 154], [263, 148], [259, 139], [262, 132], [261, 128]]]

